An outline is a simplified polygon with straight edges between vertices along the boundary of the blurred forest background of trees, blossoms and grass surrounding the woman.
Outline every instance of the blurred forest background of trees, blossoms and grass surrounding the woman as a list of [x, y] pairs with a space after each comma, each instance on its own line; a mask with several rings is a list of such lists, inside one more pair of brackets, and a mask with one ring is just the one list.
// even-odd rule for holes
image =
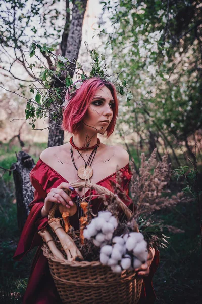
[[[22, 262], [12, 260], [26, 215], [19, 211], [12, 164], [18, 160], [23, 174], [25, 154], [36, 163], [44, 148], [68, 140], [53, 109], [63, 105], [71, 78], [92, 67], [94, 73], [107, 69], [114, 81], [119, 74], [117, 128], [102, 140], [125, 147], [138, 176], [142, 153], [149, 158], [156, 149], [162, 163], [168, 152], [166, 190], [176, 198], [183, 189], [174, 204], [154, 208], [153, 220], [162, 220], [170, 237], [154, 277], [156, 302], [200, 302], [201, 8], [199, 1], [181, 0], [2, 1], [1, 303], [21, 302], [33, 258], [29, 253]], [[53, 103], [47, 98], [52, 88]]]

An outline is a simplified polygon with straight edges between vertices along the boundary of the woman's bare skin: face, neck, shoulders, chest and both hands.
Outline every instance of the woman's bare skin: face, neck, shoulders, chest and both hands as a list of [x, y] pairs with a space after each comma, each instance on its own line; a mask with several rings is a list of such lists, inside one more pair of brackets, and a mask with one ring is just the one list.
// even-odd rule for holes
[[[77, 134], [73, 134], [73, 141], [77, 147], [83, 147], [89, 144], [93, 146], [97, 143], [97, 134], [104, 134], [113, 117], [113, 97], [107, 87], [102, 87], [97, 90], [92, 102], [83, 119], [83, 124]], [[103, 122], [108, 120], [108, 122]], [[61, 183], [57, 188], [52, 188], [44, 201], [44, 206], [41, 210], [42, 216], [47, 216], [53, 203], [58, 203], [70, 208], [73, 204], [71, 198], [62, 190], [70, 189], [71, 183], [80, 181], [77, 176], [71, 154], [71, 145], [66, 143], [58, 147], [50, 147], [44, 150], [40, 156], [41, 160], [57, 171], [67, 182]], [[76, 167], [84, 165], [84, 161], [74, 148], [73, 156]], [[92, 149], [82, 151], [82, 156], [87, 162]], [[59, 162], [60, 161], [60, 162]], [[63, 164], [61, 164], [61, 162]], [[97, 183], [100, 180], [115, 173], [117, 170], [125, 167], [129, 162], [129, 156], [126, 150], [118, 146], [107, 146], [103, 143], [97, 148], [94, 161], [91, 165], [93, 175], [91, 182]], [[84, 189], [77, 189], [78, 195], [84, 195]], [[140, 275], [146, 276], [149, 273], [150, 255], [148, 256], [148, 267], [141, 268]], [[153, 257], [152, 257], [153, 259]], [[152, 261], [151, 259], [151, 261]], [[144, 269], [145, 268], [145, 269]], [[139, 269], [140, 271], [140, 269]]]

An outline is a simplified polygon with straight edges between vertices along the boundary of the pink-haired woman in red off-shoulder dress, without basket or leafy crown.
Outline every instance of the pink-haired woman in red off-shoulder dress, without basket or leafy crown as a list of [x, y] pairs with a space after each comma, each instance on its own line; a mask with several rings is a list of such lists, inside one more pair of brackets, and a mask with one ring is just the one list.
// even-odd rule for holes
[[[70, 208], [72, 201], [79, 204], [82, 197], [87, 195], [84, 189], [73, 189], [72, 182], [90, 179], [113, 191], [117, 172], [121, 172], [121, 188], [126, 194], [122, 199], [128, 206], [131, 203], [128, 197], [131, 179], [128, 153], [121, 147], [100, 143], [97, 138], [98, 133], [109, 137], [114, 131], [118, 113], [115, 88], [112, 83], [99, 78], [91, 78], [79, 84], [79, 89], [67, 95], [68, 104], [63, 113], [62, 127], [73, 134], [70, 142], [44, 150], [30, 173], [35, 188], [34, 201], [30, 204], [31, 211], [14, 258], [19, 260], [34, 246], [39, 247], [24, 295], [24, 304], [60, 303], [48, 262], [41, 250], [42, 240], [37, 232], [47, 225], [47, 216], [53, 203]], [[70, 190], [71, 195], [68, 196], [63, 189]], [[99, 205], [100, 200], [92, 198], [93, 208], [96, 209]], [[70, 223], [78, 229], [78, 213], [71, 217]], [[151, 278], [158, 260], [158, 252], [150, 249], [147, 264], [137, 270], [144, 277], [140, 303], [153, 303], [155, 300]]]

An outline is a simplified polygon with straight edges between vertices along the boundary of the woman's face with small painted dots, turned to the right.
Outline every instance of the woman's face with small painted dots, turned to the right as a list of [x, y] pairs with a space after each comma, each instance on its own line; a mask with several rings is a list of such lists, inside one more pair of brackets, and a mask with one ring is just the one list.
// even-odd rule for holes
[[106, 86], [98, 89], [83, 119], [85, 128], [104, 133], [112, 120], [114, 105], [110, 90]]

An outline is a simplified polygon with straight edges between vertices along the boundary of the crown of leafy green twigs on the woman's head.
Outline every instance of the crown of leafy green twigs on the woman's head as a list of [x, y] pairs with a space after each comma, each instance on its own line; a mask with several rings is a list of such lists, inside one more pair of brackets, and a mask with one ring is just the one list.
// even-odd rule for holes
[[[40, 89], [34, 84], [30, 85], [30, 92], [35, 94], [35, 97], [27, 101], [25, 117], [26, 119], [31, 120], [30, 125], [33, 129], [35, 128], [35, 121], [38, 118], [49, 117], [50, 114], [53, 124], [61, 124], [62, 108], [64, 106], [66, 91], [68, 89], [69, 94], [71, 95], [78, 89], [78, 84], [73, 85], [72, 77], [70, 76], [69, 65], [73, 63], [70, 62], [68, 58], [61, 55], [55, 55], [52, 47], [47, 45], [42, 46], [35, 41], [31, 43], [29, 49], [30, 57], [34, 56], [37, 50], [41, 53], [45, 52], [49, 58], [52, 58], [54, 64], [52, 65], [52, 69], [48, 69], [45, 65], [40, 66], [41, 72], [38, 80], [41, 85]], [[118, 82], [119, 75], [115, 78], [116, 74], [111, 76], [106, 72], [105, 55], [98, 54], [95, 49], [87, 51], [91, 57], [91, 71], [87, 75], [83, 70], [81, 63], [77, 62], [75, 74], [77, 75], [78, 82], [82, 83], [91, 77], [103, 78], [113, 82], [117, 88], [117, 92], [121, 95], [124, 95], [127, 92], [127, 100], [131, 100], [133, 95], [127, 88], [126, 80]], [[29, 68], [32, 70], [32, 65], [29, 65]], [[53, 85], [56, 82], [60, 83], [60, 85]]]

